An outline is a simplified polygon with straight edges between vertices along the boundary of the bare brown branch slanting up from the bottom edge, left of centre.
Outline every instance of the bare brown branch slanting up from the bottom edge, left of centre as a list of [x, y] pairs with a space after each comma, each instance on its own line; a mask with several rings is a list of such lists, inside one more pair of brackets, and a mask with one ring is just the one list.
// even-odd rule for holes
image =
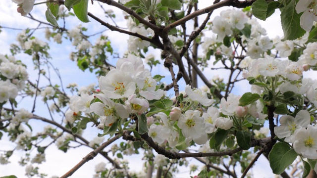
[[109, 139], [108, 141], [106, 141], [105, 143], [103, 143], [102, 145], [100, 145], [98, 148], [96, 148], [94, 151], [90, 152], [87, 156], [85, 156], [76, 166], [74, 166], [71, 170], [69, 170], [66, 174], [64, 174], [62, 177], [60, 178], [68, 178], [70, 177], [72, 174], [74, 174], [81, 166], [83, 166], [85, 163], [87, 163], [88, 161], [94, 159], [97, 154], [99, 152], [101, 152], [104, 148], [106, 148], [106, 146], [108, 146], [109, 144], [111, 144], [112, 142], [114, 142], [115, 140], [119, 139], [121, 137], [120, 134], [117, 134], [116, 136], [112, 137], [111, 139]]

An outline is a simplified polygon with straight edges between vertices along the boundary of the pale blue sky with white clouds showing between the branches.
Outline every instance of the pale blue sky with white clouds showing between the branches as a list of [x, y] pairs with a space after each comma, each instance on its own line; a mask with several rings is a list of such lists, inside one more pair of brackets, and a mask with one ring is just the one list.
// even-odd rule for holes
[[[40, 0], [36, 0], [36, 2], [40, 2]], [[200, 9], [205, 7], [206, 4], [210, 4], [210, 0], [200, 0]], [[18, 29], [25, 29], [25, 28], [36, 28], [39, 23], [34, 22], [26, 17], [22, 17], [19, 15], [19, 13], [16, 12], [16, 4], [12, 3], [11, 0], [0, 0], [0, 26], [2, 27], [10, 27], [14, 29], [8, 29], [8, 28], [2, 28], [2, 32], [0, 33], [0, 54], [9, 54], [9, 45], [11, 43], [17, 43], [15, 41], [16, 35], [20, 32]], [[109, 9], [106, 4], [104, 5], [106, 9]], [[117, 10], [116, 8], [112, 7], [112, 10], [115, 11], [117, 14], [116, 23], [119, 26], [126, 26], [125, 21], [122, 16], [122, 12], [120, 10]], [[34, 10], [32, 11], [32, 15], [41, 20], [46, 22], [45, 19], [45, 4], [37, 5], [34, 7]], [[103, 11], [99, 8], [99, 5], [95, 1], [94, 5], [89, 5], [89, 11], [93, 12], [96, 16], [103, 18]], [[216, 10], [214, 14], [212, 15], [212, 18], [216, 15], [218, 15], [220, 10]], [[199, 18], [201, 21], [204, 19], [204, 17]], [[78, 19], [73, 18], [71, 20], [67, 21], [66, 28], [71, 29], [79, 24], [83, 24], [84, 27], [89, 29], [88, 34], [94, 34], [101, 32], [103, 30], [106, 30], [105, 27], [101, 26], [99, 23], [95, 22], [93, 19], [90, 19], [90, 23], [81, 23]], [[104, 18], [105, 21], [109, 21], [109, 19]], [[59, 22], [61, 23], [61, 22]], [[267, 31], [267, 35], [270, 38], [274, 38], [275, 36], [282, 36], [282, 30], [280, 27], [279, 22], [279, 13], [275, 13], [272, 17], [268, 18], [268, 20], [261, 21], [261, 24], [264, 26], [264, 28]], [[127, 35], [119, 34], [118, 32], [111, 32], [106, 31], [104, 32], [106, 36], [111, 41], [112, 47], [115, 49], [116, 52], [122, 54], [127, 50]], [[44, 29], [39, 30], [35, 32], [35, 36], [38, 36], [41, 39], [44, 39]], [[91, 41], [94, 43], [94, 38]], [[76, 64], [69, 60], [69, 52], [73, 50], [74, 48], [70, 45], [69, 42], [64, 40], [62, 45], [50, 45], [50, 53], [53, 57], [52, 63], [55, 67], [59, 69], [59, 72], [61, 73], [61, 76], [63, 77], [63, 84], [66, 86], [69, 83], [77, 83], [79, 87], [81, 86], [87, 86], [91, 83], [98, 84], [97, 78], [90, 73], [84, 73], [81, 70], [78, 69]], [[151, 50], [151, 52], [157, 56], [156, 58], [159, 59], [160, 51], [159, 50]], [[121, 55], [122, 56], [122, 55]], [[30, 74], [30, 80], [35, 81], [35, 77], [37, 76], [37, 71], [33, 70], [31, 67], [32, 65], [32, 59], [30, 56], [25, 54], [19, 54], [17, 55], [17, 58], [19, 60], [22, 60], [22, 62], [26, 63], [28, 65], [28, 72]], [[115, 63], [115, 61], [113, 61]], [[176, 70], [177, 71], [177, 70]], [[207, 76], [213, 76], [216, 74], [216, 72], [206, 69], [204, 71]], [[164, 69], [163, 67], [157, 67], [153, 69], [153, 73], [165, 75], [168, 76], [168, 70]], [[167, 80], [167, 79], [166, 79]], [[58, 78], [52, 74], [52, 82], [53, 84], [59, 85]], [[170, 83], [170, 82], [168, 82]], [[44, 82], [42, 85], [47, 85], [47, 82]], [[200, 85], [202, 83], [200, 82]], [[181, 87], [184, 88], [184, 85]], [[243, 92], [244, 90], [248, 90], [242, 87], [242, 84], [238, 84], [237, 87], [239, 87], [240, 92]], [[183, 89], [181, 88], [181, 89]], [[33, 102], [33, 99], [24, 99], [20, 103], [20, 107], [24, 107], [31, 111], [30, 102]], [[43, 108], [41, 105], [41, 99], [37, 101], [37, 109], [36, 114], [48, 117], [47, 116], [47, 108]], [[31, 125], [37, 125], [37, 127], [33, 128], [35, 133], [41, 132], [45, 124], [37, 122], [37, 121], [31, 121]], [[94, 130], [94, 128], [88, 128], [87, 131], [85, 131], [84, 136], [88, 139], [92, 139], [95, 136], [97, 136], [98, 131]], [[4, 136], [2, 140], [0, 141], [0, 150], [11, 150], [14, 148], [14, 144], [7, 141]], [[50, 176], [56, 175], [61, 176], [67, 171], [69, 171], [74, 165], [76, 165], [84, 156], [86, 156], [90, 151], [92, 151], [89, 148], [82, 147], [80, 149], [72, 149], [70, 150], [69, 154], [65, 154], [61, 151], [58, 151], [56, 147], [53, 145], [49, 147], [46, 150], [46, 162], [42, 165], [39, 165], [40, 172], [41, 173], [47, 173]], [[36, 154], [36, 150], [32, 151], [32, 154]], [[6, 176], [6, 175], [15, 175], [18, 178], [23, 178], [24, 176], [24, 167], [20, 167], [17, 163], [18, 160], [20, 160], [20, 157], [23, 156], [23, 152], [14, 152], [12, 157], [10, 158], [10, 164], [7, 165], [0, 165], [0, 177]], [[142, 164], [140, 163], [140, 156], [139, 155], [133, 155], [133, 156], [125, 156], [125, 159], [127, 159], [130, 162], [130, 168], [131, 170], [140, 171], [142, 169]], [[77, 171], [73, 177], [74, 178], [91, 178], [94, 170], [95, 165], [105, 161], [103, 157], [97, 156], [95, 159], [89, 161], [86, 163], [79, 171]], [[194, 159], [190, 159], [191, 163], [195, 163]], [[138, 163], [138, 164], [136, 164]], [[271, 178], [273, 177], [271, 170], [268, 165], [268, 161], [263, 156], [260, 157], [259, 161], [256, 163], [253, 173], [257, 178]], [[177, 174], [177, 178], [188, 178], [189, 172], [186, 169], [182, 169], [180, 174]]]

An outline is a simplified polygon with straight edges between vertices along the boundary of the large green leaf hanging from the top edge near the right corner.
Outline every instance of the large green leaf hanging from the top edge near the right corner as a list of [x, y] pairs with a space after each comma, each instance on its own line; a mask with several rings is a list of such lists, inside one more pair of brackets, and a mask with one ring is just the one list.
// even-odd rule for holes
[[300, 26], [300, 17], [302, 13], [298, 14], [295, 10], [296, 0], [290, 2], [281, 10], [281, 22], [284, 32], [285, 40], [296, 40], [302, 37], [306, 31]]

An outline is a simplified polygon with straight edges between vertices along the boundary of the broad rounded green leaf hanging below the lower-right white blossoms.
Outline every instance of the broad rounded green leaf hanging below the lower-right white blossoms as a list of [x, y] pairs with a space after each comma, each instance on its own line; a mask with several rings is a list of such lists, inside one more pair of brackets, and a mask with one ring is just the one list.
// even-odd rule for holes
[[297, 158], [297, 153], [289, 144], [276, 143], [268, 155], [269, 165], [274, 174], [280, 175]]

